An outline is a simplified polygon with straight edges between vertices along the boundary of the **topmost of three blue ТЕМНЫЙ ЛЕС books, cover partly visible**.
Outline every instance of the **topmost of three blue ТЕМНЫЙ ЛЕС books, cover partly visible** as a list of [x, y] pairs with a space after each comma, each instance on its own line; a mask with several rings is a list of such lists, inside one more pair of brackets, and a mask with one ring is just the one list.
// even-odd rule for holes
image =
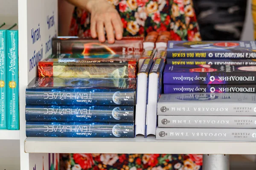
[[26, 105], [132, 105], [136, 79], [34, 78]]

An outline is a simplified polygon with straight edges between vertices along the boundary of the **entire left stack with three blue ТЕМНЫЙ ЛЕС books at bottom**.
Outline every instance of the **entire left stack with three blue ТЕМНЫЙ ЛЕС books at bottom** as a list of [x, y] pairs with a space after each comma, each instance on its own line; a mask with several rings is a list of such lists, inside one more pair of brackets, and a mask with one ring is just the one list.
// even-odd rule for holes
[[27, 137], [134, 137], [143, 38], [54, 38], [26, 89]]

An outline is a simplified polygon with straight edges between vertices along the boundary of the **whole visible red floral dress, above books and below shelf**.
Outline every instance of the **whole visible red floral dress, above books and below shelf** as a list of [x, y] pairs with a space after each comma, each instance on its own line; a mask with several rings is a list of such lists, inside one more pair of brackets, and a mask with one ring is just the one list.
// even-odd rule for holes
[[[123, 36], [170, 31], [172, 40], [201, 41], [192, 0], [108, 0], [119, 12]], [[90, 37], [90, 14], [75, 8], [69, 36]], [[201, 170], [202, 155], [61, 154], [60, 170]]]

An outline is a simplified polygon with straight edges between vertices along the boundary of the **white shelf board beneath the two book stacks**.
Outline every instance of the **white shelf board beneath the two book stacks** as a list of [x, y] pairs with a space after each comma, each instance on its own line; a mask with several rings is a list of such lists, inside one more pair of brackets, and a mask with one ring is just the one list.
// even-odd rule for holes
[[133, 139], [27, 138], [26, 153], [256, 154], [256, 142], [157, 141]]

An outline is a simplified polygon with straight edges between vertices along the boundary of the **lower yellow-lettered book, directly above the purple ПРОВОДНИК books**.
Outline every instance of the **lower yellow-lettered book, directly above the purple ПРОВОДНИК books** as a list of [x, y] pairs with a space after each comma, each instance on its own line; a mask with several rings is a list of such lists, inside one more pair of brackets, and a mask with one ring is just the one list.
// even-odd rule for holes
[[256, 65], [256, 59], [166, 59], [170, 65]]

